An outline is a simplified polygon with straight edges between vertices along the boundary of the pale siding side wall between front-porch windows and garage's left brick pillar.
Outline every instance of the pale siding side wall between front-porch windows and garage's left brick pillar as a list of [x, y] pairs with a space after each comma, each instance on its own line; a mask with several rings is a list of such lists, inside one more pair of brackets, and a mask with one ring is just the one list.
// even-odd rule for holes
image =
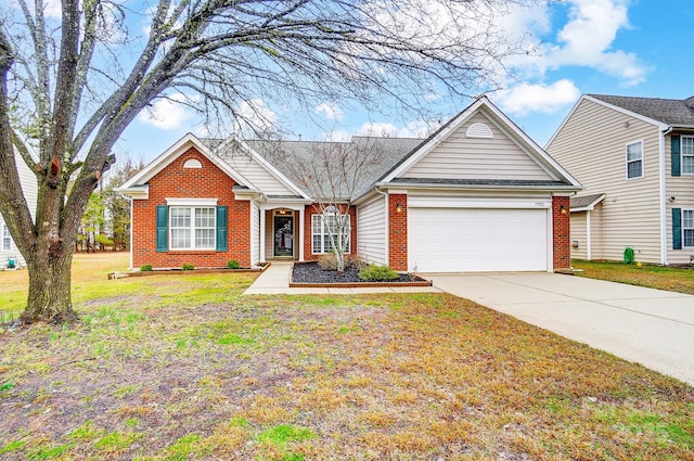
[[386, 197], [383, 195], [361, 205], [358, 209], [358, 253], [369, 262], [387, 264], [385, 217]]

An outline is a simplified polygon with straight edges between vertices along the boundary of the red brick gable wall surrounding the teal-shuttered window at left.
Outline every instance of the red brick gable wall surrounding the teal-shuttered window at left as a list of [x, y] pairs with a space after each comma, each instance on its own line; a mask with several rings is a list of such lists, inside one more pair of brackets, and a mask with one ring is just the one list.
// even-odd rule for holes
[[[183, 168], [196, 158], [203, 168]], [[203, 154], [191, 148], [150, 180], [150, 199], [132, 202], [132, 265], [181, 267], [222, 267], [229, 259], [250, 266], [250, 203], [234, 200], [234, 181]], [[156, 252], [156, 207], [166, 199], [217, 199], [217, 205], [228, 206], [227, 252], [168, 251]]]

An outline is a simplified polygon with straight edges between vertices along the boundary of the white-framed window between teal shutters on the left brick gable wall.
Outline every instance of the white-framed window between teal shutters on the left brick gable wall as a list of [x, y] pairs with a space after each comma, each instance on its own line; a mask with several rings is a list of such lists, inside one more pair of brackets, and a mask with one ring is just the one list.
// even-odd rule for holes
[[215, 249], [215, 207], [169, 207], [171, 249]]

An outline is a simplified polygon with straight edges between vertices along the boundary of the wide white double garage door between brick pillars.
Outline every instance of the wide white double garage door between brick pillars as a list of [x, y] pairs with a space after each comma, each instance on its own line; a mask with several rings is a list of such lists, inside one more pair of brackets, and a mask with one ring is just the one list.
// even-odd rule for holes
[[419, 272], [547, 270], [545, 209], [409, 208], [408, 266]]

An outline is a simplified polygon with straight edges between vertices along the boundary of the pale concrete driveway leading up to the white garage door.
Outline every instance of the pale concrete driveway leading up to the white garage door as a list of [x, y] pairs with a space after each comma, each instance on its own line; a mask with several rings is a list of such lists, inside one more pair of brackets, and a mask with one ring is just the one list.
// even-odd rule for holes
[[434, 286], [694, 385], [694, 296], [553, 273], [424, 274]]

